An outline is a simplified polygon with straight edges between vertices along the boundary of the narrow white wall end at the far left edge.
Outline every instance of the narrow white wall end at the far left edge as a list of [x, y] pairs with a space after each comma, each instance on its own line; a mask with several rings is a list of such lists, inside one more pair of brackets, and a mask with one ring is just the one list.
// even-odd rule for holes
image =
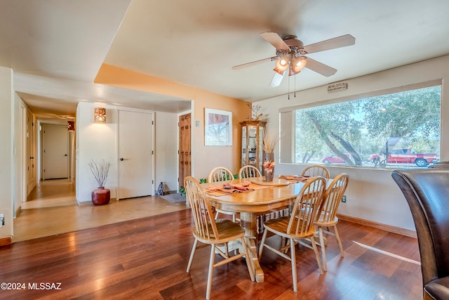
[[15, 178], [15, 140], [13, 116], [13, 70], [0, 67], [0, 214], [5, 225], [0, 228], [0, 238], [13, 235], [13, 202]]

